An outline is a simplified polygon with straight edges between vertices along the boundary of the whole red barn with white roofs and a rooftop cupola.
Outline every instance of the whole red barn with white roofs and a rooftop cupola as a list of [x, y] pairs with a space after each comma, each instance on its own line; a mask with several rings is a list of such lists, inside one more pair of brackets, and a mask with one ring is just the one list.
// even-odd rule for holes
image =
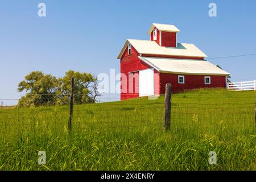
[[177, 43], [171, 24], [153, 23], [150, 40], [127, 39], [118, 55], [121, 64], [121, 100], [195, 88], [225, 88], [229, 73], [205, 60], [194, 44]]

